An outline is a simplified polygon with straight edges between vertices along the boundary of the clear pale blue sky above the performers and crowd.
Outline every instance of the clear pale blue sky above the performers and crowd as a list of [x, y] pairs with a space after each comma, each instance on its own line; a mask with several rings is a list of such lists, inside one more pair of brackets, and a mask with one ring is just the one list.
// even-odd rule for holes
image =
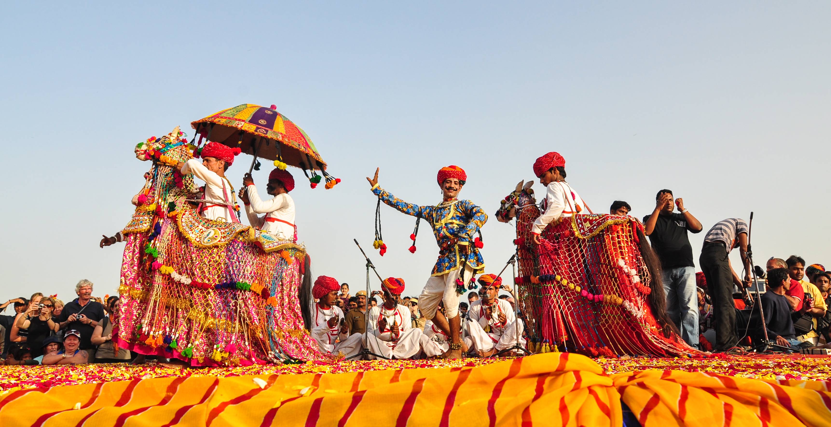
[[[623, 199], [640, 218], [668, 188], [705, 229], [755, 211], [757, 264], [831, 267], [828, 3], [200, 3], [4, 5], [0, 300], [67, 301], [81, 278], [116, 293], [123, 246], [97, 244], [130, 218], [148, 168], [135, 144], [245, 102], [276, 104], [343, 179], [298, 179], [292, 195], [313, 272], [353, 290], [376, 166], [393, 194], [430, 204], [436, 170], [458, 164], [461, 195], [493, 214], [551, 150], [595, 211]], [[389, 252], [371, 256], [416, 295], [435, 243], [421, 233], [413, 255], [413, 218], [382, 218]], [[485, 225], [489, 272], [513, 233]]]

